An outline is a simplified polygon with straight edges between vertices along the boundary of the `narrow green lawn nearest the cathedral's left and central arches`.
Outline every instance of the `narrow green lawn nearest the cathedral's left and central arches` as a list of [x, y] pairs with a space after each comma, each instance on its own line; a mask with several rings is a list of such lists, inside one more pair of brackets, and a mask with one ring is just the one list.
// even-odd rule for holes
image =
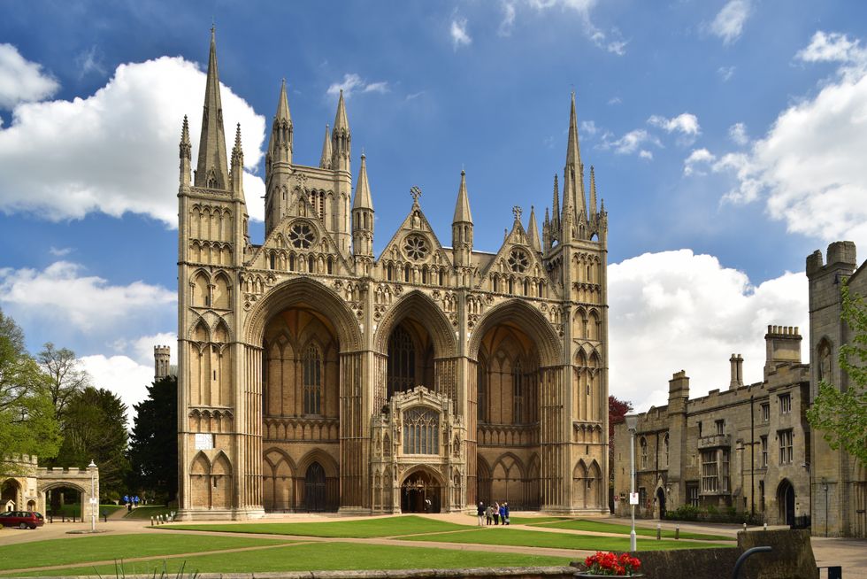
[[301, 537], [396, 537], [418, 533], [464, 530], [468, 525], [435, 521], [417, 516], [359, 519], [330, 522], [253, 522], [241, 524], [166, 525], [160, 529], [227, 531], [230, 533], [270, 533]]

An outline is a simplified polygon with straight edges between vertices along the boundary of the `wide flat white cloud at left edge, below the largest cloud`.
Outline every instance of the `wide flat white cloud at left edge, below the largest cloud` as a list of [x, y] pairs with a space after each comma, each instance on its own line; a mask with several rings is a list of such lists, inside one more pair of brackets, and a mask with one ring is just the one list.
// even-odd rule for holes
[[177, 300], [175, 292], [161, 286], [111, 285], [83, 270], [69, 261], [57, 261], [42, 271], [0, 269], [0, 305], [22, 323], [39, 319], [88, 333], [147, 318]]

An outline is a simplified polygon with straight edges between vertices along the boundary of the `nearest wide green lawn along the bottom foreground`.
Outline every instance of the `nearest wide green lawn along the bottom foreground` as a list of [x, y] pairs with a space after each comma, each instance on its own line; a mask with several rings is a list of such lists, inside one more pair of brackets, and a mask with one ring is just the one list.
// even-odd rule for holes
[[[207, 537], [216, 538], [216, 537]], [[176, 574], [182, 564], [184, 574], [199, 573], [265, 573], [268, 571], [311, 571], [348, 569], [418, 569], [460, 567], [529, 567], [568, 565], [571, 559], [521, 555], [504, 552], [466, 552], [425, 547], [395, 547], [379, 544], [322, 543], [295, 544], [261, 551], [215, 553], [196, 557], [165, 560], [169, 574]], [[157, 575], [163, 569], [163, 560], [125, 562], [123, 573], [117, 575]], [[35, 571], [22, 574], [51, 575], [96, 575], [115, 576], [113, 565], [74, 567], [54, 571]]]

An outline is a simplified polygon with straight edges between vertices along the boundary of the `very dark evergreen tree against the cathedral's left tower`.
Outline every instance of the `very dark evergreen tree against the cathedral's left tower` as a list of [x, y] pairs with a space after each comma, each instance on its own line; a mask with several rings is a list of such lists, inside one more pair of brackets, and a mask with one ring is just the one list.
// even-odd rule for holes
[[129, 488], [160, 501], [178, 493], [178, 378], [166, 376], [148, 387], [148, 398], [135, 407], [129, 444]]

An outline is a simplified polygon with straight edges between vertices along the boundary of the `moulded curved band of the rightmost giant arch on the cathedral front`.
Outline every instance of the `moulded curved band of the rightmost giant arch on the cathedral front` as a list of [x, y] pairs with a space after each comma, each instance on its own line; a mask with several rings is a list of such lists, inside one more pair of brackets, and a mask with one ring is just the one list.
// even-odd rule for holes
[[539, 349], [540, 367], [552, 367], [562, 363], [563, 348], [548, 320], [539, 310], [518, 299], [510, 299], [488, 310], [479, 320], [470, 337], [468, 355], [479, 359], [479, 348], [487, 330], [497, 324], [517, 325], [530, 336]]

